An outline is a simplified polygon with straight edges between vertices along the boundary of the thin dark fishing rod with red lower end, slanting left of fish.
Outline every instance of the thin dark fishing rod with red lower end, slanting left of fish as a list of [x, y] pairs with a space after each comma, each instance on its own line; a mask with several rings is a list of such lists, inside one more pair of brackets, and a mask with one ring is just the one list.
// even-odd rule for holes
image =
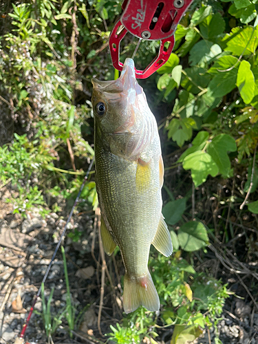
[[[52, 267], [54, 258], [56, 257], [56, 253], [57, 253], [57, 251], [58, 251], [58, 248], [60, 247], [61, 241], [62, 241], [62, 239], [63, 239], [63, 236], [65, 235], [65, 232], [66, 232], [66, 229], [67, 229], [67, 225], [69, 224], [69, 222], [70, 222], [70, 220], [71, 220], [71, 217], [72, 217], [72, 214], [74, 213], [74, 208], [76, 207], [76, 205], [77, 205], [77, 203], [78, 203], [80, 194], [81, 194], [81, 192], [83, 191], [83, 188], [84, 188], [84, 186], [85, 186], [85, 182], [87, 181], [87, 179], [88, 179], [88, 177], [89, 177], [89, 172], [90, 172], [91, 169], [92, 169], [93, 163], [94, 163], [94, 158], [92, 159], [92, 161], [91, 161], [90, 164], [89, 164], [89, 168], [88, 168], [87, 173], [86, 173], [86, 175], [85, 175], [85, 178], [84, 178], [84, 180], [83, 180], [83, 184], [81, 184], [81, 186], [80, 186], [80, 190], [79, 190], [79, 192], [78, 192], [78, 195], [77, 195], [77, 197], [76, 197], [76, 200], [74, 201], [74, 205], [72, 206], [72, 210], [71, 210], [70, 213], [69, 213], [69, 217], [68, 217], [67, 222], [66, 222], [66, 224], [65, 224], [65, 228], [63, 228], [63, 233], [61, 234], [61, 237], [60, 237], [60, 239], [59, 239], [59, 241], [58, 241], [58, 244], [56, 245], [56, 249], [54, 250], [54, 253], [53, 253], [53, 255], [52, 255], [52, 259], [51, 259], [51, 261], [50, 261], [49, 266], [47, 267], [47, 271], [45, 272], [45, 276], [43, 277], [43, 280], [42, 280], [42, 282], [41, 282], [41, 285], [42, 285], [42, 283], [45, 283], [45, 281], [46, 281], [46, 279], [47, 279], [47, 276], [48, 276], [48, 274], [49, 274], [49, 272], [50, 272], [50, 269], [51, 269], [51, 267]], [[18, 344], [18, 343], [23, 344], [23, 343], [24, 343], [23, 337], [24, 337], [24, 335], [25, 335], [25, 331], [26, 331], [27, 326], [28, 326], [28, 323], [29, 323], [29, 321], [30, 321], [30, 317], [32, 316], [32, 312], [33, 312], [33, 310], [34, 310], [34, 305], [35, 305], [36, 300], [38, 299], [38, 297], [39, 297], [40, 294], [41, 294], [41, 286], [39, 287], [39, 291], [36, 293], [36, 297], [35, 297], [35, 299], [34, 299], [34, 301], [33, 301], [33, 303], [32, 303], [32, 307], [30, 308], [30, 313], [29, 313], [29, 315], [28, 315], [28, 318], [26, 319], [25, 323], [23, 324], [23, 329], [21, 330], [21, 334], [20, 334], [20, 336], [19, 336], [18, 338], [16, 338], [16, 341], [14, 342], [14, 344]]]

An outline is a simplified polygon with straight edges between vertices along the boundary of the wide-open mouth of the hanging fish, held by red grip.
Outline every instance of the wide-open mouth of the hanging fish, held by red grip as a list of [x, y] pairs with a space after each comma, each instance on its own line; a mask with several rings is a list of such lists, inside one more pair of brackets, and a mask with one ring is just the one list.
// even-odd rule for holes
[[138, 83], [136, 81], [136, 71], [133, 59], [126, 58], [121, 75], [118, 79], [102, 81], [93, 78], [92, 83], [94, 88], [98, 91], [109, 94], [127, 93], [129, 89], [136, 89]]

